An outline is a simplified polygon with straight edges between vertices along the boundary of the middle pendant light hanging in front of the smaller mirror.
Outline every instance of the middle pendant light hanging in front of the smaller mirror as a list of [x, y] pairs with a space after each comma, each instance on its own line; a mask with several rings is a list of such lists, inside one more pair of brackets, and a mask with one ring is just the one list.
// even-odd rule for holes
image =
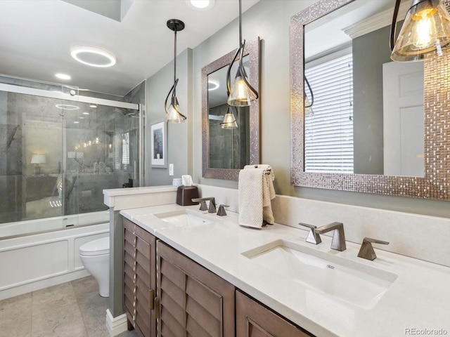
[[[248, 76], [243, 66], [245, 40], [242, 39], [242, 0], [239, 0], [239, 48], [231, 61], [228, 71], [226, 72], [226, 86], [228, 88], [229, 98], [228, 104], [235, 107], [248, 107], [258, 99], [258, 93], [248, 82]], [[238, 72], [234, 84], [231, 87], [230, 72], [234, 61], [239, 55]]]

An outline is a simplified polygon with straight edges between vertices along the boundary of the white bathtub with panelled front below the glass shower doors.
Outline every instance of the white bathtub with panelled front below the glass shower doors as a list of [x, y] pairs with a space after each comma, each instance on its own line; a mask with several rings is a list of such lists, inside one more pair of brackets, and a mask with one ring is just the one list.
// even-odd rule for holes
[[0, 300], [89, 275], [79, 246], [109, 230], [109, 211], [0, 224]]

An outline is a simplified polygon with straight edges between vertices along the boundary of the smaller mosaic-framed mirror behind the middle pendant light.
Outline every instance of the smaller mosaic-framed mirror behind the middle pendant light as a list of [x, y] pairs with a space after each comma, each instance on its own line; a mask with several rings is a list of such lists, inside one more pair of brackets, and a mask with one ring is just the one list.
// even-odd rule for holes
[[[245, 165], [259, 164], [259, 100], [233, 109], [237, 128], [222, 128], [228, 109], [226, 71], [236, 50], [202, 68], [202, 169], [204, 178], [238, 180]], [[259, 37], [245, 42], [243, 56], [250, 84], [259, 91]], [[236, 68], [234, 67], [236, 65]], [[238, 66], [231, 68], [234, 79]]]

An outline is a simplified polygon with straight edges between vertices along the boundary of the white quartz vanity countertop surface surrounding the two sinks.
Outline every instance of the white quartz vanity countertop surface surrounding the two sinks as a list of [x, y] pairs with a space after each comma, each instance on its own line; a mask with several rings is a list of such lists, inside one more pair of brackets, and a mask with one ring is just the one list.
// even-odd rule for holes
[[[120, 211], [174, 249], [234, 284], [280, 315], [316, 336], [396, 337], [450, 335], [450, 268], [376, 249], [373, 261], [358, 258], [359, 244], [347, 250], [330, 249], [331, 238], [322, 235], [318, 245], [306, 242], [307, 231], [285, 225], [262, 230], [240, 227], [238, 214], [210, 214], [217, 222], [183, 227], [169, 224], [155, 214], [198, 206], [176, 204]], [[207, 213], [198, 211], [200, 213]], [[311, 249], [393, 273], [397, 279], [373, 308], [330, 295], [295, 282], [255, 263], [243, 252], [285, 239]], [[352, 291], [349, 286], [347, 291]]]

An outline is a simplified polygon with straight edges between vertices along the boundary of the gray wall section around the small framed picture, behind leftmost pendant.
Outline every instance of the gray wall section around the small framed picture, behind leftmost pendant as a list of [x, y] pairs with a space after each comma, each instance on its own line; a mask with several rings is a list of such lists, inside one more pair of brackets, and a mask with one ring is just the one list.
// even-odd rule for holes
[[[178, 39], [181, 39], [181, 35]], [[176, 97], [181, 113], [188, 120], [185, 123], [167, 123], [167, 168], [151, 167], [150, 159], [150, 125], [165, 119], [164, 103], [170, 88], [174, 84], [174, 63], [169, 62], [159, 72], [147, 80], [146, 86], [146, 129], [147, 152], [146, 185], [172, 185], [173, 178], [192, 174], [192, 49], [186, 49], [176, 58]], [[169, 98], [170, 99], [170, 98]], [[174, 176], [169, 176], [169, 164], [174, 164]], [[190, 168], [191, 166], [191, 168]]]

